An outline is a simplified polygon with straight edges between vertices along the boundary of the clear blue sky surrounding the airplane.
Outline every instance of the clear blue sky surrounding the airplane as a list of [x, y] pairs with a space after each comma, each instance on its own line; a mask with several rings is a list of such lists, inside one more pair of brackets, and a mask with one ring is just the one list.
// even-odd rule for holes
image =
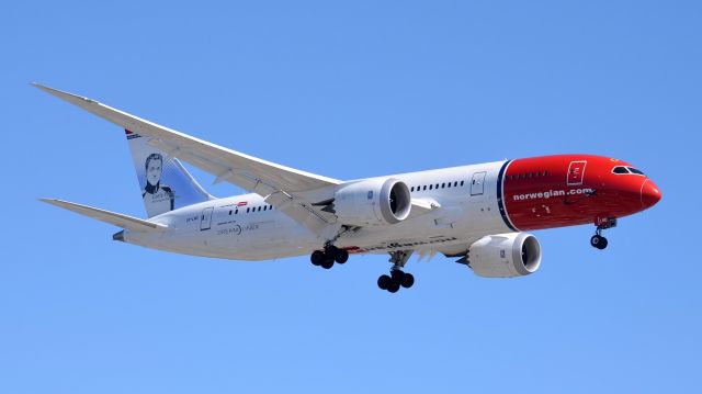
[[[702, 350], [699, 1], [8, 1], [0, 393], [693, 392]], [[557, 153], [629, 160], [654, 209], [533, 275], [385, 256], [326, 271], [111, 240], [123, 132], [39, 81], [339, 179]], [[216, 195], [238, 193], [210, 187]]]

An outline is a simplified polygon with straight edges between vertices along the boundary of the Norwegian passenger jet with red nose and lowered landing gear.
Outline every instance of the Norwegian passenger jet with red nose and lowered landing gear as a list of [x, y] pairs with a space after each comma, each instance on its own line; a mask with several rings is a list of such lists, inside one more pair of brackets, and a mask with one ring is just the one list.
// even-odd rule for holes
[[[122, 230], [114, 240], [192, 256], [270, 260], [308, 255], [330, 269], [350, 255], [389, 254], [377, 286], [409, 289], [412, 254], [442, 254], [479, 277], [535, 272], [541, 245], [526, 232], [592, 224], [602, 232], [652, 207], [661, 192], [626, 161], [554, 155], [342, 181], [262, 160], [98, 101], [36, 88], [125, 130], [147, 219], [56, 199], [43, 202]], [[185, 161], [248, 194], [215, 198]]]

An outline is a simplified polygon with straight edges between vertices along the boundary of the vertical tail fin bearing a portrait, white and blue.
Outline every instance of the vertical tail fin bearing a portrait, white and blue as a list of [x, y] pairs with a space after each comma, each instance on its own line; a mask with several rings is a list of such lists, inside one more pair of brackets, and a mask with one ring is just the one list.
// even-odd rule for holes
[[126, 134], [148, 217], [214, 199], [177, 158], [152, 147], [148, 137]]

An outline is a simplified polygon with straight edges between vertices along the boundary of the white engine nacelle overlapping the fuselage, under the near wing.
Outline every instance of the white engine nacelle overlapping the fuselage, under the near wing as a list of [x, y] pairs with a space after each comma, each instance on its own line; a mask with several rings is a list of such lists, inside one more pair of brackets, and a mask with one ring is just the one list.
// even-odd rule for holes
[[412, 198], [405, 182], [376, 178], [351, 183], [335, 194], [333, 212], [341, 223], [356, 226], [396, 224], [409, 216]]

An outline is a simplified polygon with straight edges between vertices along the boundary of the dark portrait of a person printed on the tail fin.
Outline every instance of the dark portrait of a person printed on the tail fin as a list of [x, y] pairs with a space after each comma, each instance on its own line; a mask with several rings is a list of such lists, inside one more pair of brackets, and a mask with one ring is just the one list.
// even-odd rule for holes
[[163, 156], [161, 154], [150, 154], [146, 158], [144, 167], [146, 187], [141, 191], [141, 198], [149, 217], [173, 211], [176, 207], [176, 194], [169, 185], [161, 183]]

